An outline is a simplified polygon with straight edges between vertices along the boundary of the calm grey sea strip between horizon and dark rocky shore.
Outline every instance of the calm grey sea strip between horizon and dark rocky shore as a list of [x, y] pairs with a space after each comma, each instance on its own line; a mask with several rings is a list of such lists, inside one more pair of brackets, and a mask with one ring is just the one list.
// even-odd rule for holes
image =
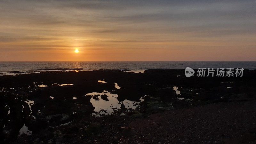
[[1, 75], [43, 72], [46, 70], [92, 71], [119, 69], [144, 72], [147, 69], [247, 68], [256, 69], [256, 61], [22, 61], [0, 62]]

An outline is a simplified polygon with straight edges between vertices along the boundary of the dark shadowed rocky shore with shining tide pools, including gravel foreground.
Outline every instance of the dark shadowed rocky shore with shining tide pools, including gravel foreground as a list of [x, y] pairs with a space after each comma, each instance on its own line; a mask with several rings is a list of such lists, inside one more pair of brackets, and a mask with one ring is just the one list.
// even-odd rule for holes
[[3, 143], [255, 143], [256, 70], [0, 76]]

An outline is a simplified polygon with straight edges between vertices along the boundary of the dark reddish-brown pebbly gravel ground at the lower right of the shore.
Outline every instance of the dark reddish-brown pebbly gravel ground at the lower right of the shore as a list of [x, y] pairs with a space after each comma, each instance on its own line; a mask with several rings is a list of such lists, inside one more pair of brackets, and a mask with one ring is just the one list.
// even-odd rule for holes
[[[153, 114], [129, 124], [134, 143], [255, 143], [256, 101], [218, 103]], [[127, 142], [124, 140], [124, 142]], [[129, 142], [129, 140], [128, 140]]]

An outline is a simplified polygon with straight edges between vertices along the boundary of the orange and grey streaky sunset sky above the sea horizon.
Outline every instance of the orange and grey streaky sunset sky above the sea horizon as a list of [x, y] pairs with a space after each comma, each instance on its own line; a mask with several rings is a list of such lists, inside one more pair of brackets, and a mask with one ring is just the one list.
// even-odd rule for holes
[[0, 61], [187, 60], [256, 60], [256, 1], [0, 0]]

